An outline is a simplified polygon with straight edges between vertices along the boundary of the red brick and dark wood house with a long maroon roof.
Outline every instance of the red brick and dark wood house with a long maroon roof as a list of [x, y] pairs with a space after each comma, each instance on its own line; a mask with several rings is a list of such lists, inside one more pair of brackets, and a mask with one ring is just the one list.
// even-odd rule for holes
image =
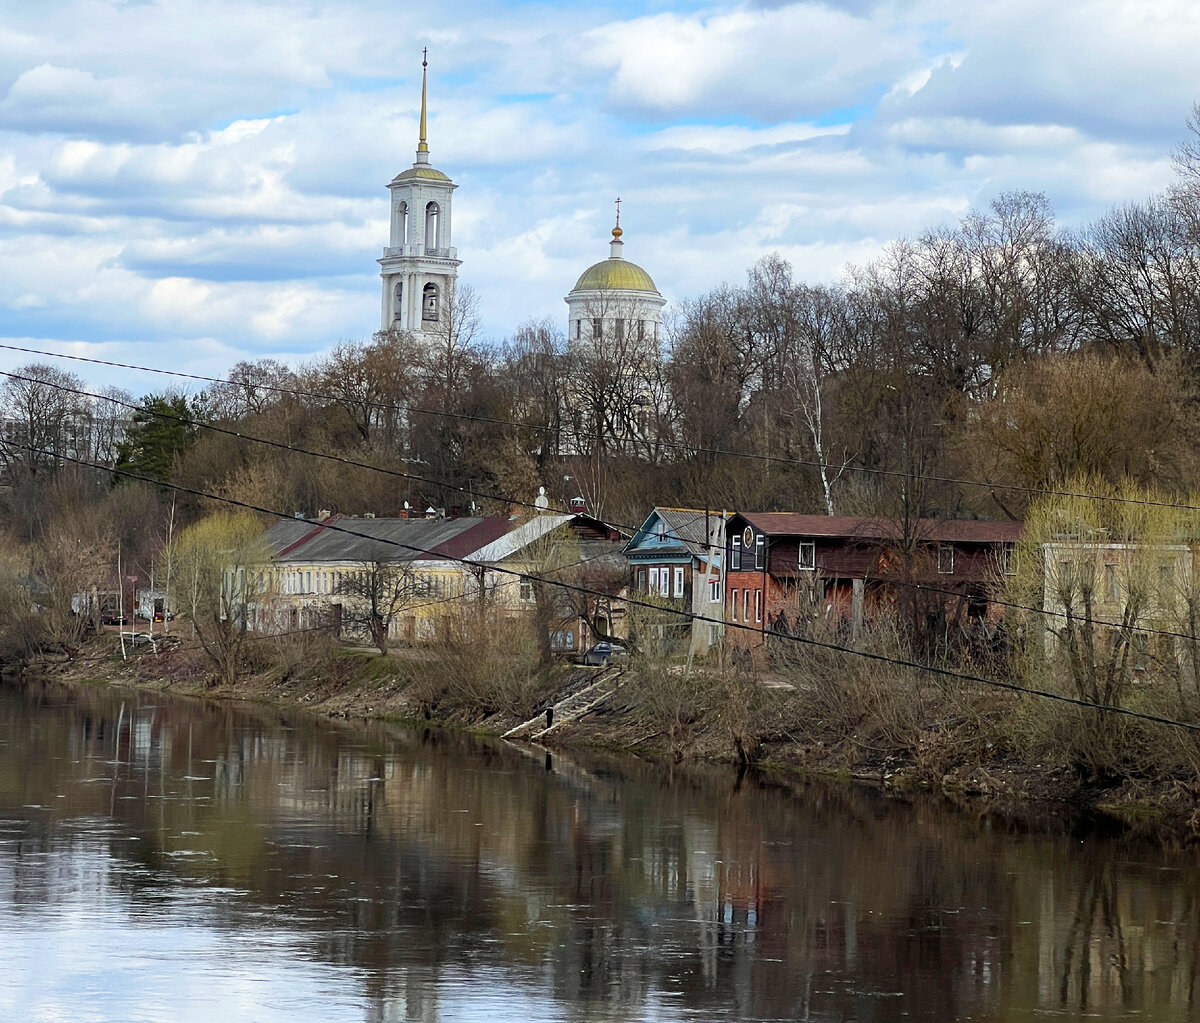
[[770, 632], [802, 634], [817, 620], [856, 632], [899, 608], [996, 617], [991, 598], [1015, 568], [1022, 526], [922, 519], [905, 536], [888, 519], [738, 513], [726, 527], [726, 641], [758, 647]]

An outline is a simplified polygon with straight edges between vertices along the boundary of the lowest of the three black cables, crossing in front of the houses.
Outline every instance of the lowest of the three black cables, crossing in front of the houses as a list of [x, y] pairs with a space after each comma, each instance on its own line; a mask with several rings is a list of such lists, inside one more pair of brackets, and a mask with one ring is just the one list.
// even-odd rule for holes
[[[254, 512], [256, 514], [259, 514], [259, 515], [268, 515], [268, 516], [275, 518], [275, 519], [292, 519], [292, 516], [288, 515], [288, 513], [286, 513], [286, 512], [278, 512], [278, 510], [276, 510], [274, 508], [263, 508], [263, 507], [257, 505], [257, 504], [251, 504], [250, 502], [246, 502], [246, 501], [238, 501], [238, 499], [230, 498], [230, 497], [221, 497], [218, 495], [208, 493], [206, 491], [202, 491], [202, 490], [198, 490], [196, 487], [184, 486], [181, 484], [173, 484], [173, 483], [162, 484], [160, 480], [154, 480], [154, 479], [150, 479], [149, 477], [140, 475], [139, 473], [128, 472], [127, 469], [110, 468], [110, 467], [107, 467], [107, 466], [98, 465], [97, 462], [91, 462], [91, 461], [88, 461], [85, 459], [78, 459], [78, 457], [73, 457], [73, 456], [68, 456], [68, 455], [56, 455], [56, 453], [54, 453], [54, 451], [47, 451], [44, 449], [32, 448], [30, 445], [24, 445], [24, 444], [14, 444], [14, 443], [12, 443], [10, 441], [4, 441], [4, 444], [6, 447], [17, 448], [19, 450], [28, 450], [28, 451], [31, 451], [34, 454], [49, 455], [52, 457], [61, 457], [64, 461], [68, 461], [68, 462], [72, 462], [72, 463], [76, 463], [76, 465], [80, 465], [80, 466], [84, 466], [86, 468], [94, 468], [94, 469], [98, 469], [98, 471], [102, 471], [102, 472], [109, 472], [109, 473], [113, 473], [115, 475], [121, 475], [121, 477], [125, 477], [125, 478], [128, 478], [128, 479], [136, 479], [136, 480], [140, 480], [143, 483], [151, 483], [151, 484], [156, 484], [156, 485], [163, 485], [163, 486], [167, 486], [168, 489], [175, 490], [175, 491], [181, 492], [181, 493], [188, 493], [188, 495], [191, 495], [193, 497], [200, 497], [200, 498], [204, 498], [204, 499], [208, 499], [208, 501], [215, 501], [215, 502], [221, 503], [221, 504], [228, 504], [228, 505], [232, 505], [232, 507], [235, 507], [235, 508], [242, 508], [242, 509], [248, 510], [248, 512]], [[355, 530], [350, 530], [350, 528], [347, 528], [344, 526], [340, 526], [336, 522], [325, 524], [323, 526], [323, 528], [332, 530], [332, 531], [338, 532], [338, 533], [346, 533], [346, 534], [353, 536], [353, 537], [359, 537], [361, 539], [370, 539], [370, 540], [374, 540], [377, 543], [384, 543], [385, 545], [400, 548], [402, 550], [408, 550], [408, 551], [410, 551], [413, 554], [416, 554], [416, 555], [431, 555], [431, 556], [438, 557], [439, 560], [443, 560], [443, 561], [452, 561], [452, 562], [457, 562], [460, 564], [468, 566], [468, 567], [472, 567], [472, 568], [481, 568], [484, 570], [494, 572], [494, 573], [500, 574], [500, 575], [509, 575], [509, 576], [516, 576], [516, 578], [528, 578], [528, 579], [538, 579], [540, 581], [546, 581], [551, 586], [556, 586], [556, 587], [558, 587], [560, 590], [572, 591], [572, 592], [581, 593], [581, 594], [587, 596], [587, 597], [602, 597], [605, 599], [611, 599], [612, 598], [611, 593], [607, 593], [607, 592], [605, 592], [602, 590], [596, 590], [594, 587], [581, 586], [578, 584], [571, 584], [571, 582], [564, 582], [562, 580], [557, 580], [557, 581], [556, 580], [548, 580], [548, 579], [542, 580], [542, 578], [539, 576], [539, 575], [532, 575], [529, 573], [517, 572], [516, 569], [503, 568], [503, 567], [500, 567], [498, 564], [476, 562], [476, 561], [473, 561], [473, 560], [467, 558], [467, 557], [455, 557], [455, 556], [442, 555], [442, 554], [438, 554], [436, 551], [431, 551], [431, 550], [426, 550], [424, 548], [414, 546], [413, 544], [401, 543], [400, 540], [380, 539], [378, 537], [372, 537], [372, 536], [368, 536], [366, 533], [360, 533], [360, 532], [358, 532]], [[658, 604], [652, 604], [648, 600], [642, 600], [642, 599], [634, 598], [634, 597], [623, 598], [623, 602], [625, 604], [630, 605], [630, 606], [646, 608], [648, 610], [653, 610], [653, 611], [659, 612], [659, 614], [670, 614], [670, 615], [674, 615], [674, 616], [678, 616], [678, 617], [685, 617], [685, 618], [688, 618], [690, 621], [694, 621], [694, 622], [696, 622], [696, 621], [698, 621], [698, 622], [710, 622], [713, 624], [721, 624], [721, 626], [724, 626], [727, 629], [728, 628], [734, 628], [734, 629], [752, 632], [756, 635], [761, 635], [763, 633], [763, 630], [761, 628], [757, 628], [757, 627], [755, 627], [752, 624], [749, 624], [749, 623], [725, 622], [722, 620], [713, 618], [713, 617], [707, 616], [707, 615], [696, 614], [694, 611], [686, 611], [686, 610], [683, 610], [683, 609], [674, 609], [674, 608], [664, 608], [664, 606], [660, 606]], [[1070, 706], [1076, 706], [1076, 707], [1081, 707], [1081, 708], [1086, 708], [1086, 710], [1100, 711], [1100, 712], [1104, 712], [1104, 713], [1120, 714], [1120, 716], [1123, 716], [1123, 717], [1135, 718], [1135, 719], [1150, 722], [1150, 723], [1153, 723], [1153, 724], [1169, 725], [1169, 726], [1172, 726], [1172, 728], [1181, 728], [1181, 729], [1184, 729], [1187, 731], [1200, 732], [1200, 724], [1193, 724], [1190, 722], [1181, 722], [1181, 720], [1176, 720], [1174, 718], [1165, 718], [1165, 717], [1162, 717], [1159, 714], [1145, 713], [1142, 711], [1134, 711], [1134, 710], [1130, 710], [1128, 707], [1118, 707], [1118, 706], [1114, 706], [1114, 705], [1110, 705], [1110, 704], [1097, 704], [1097, 702], [1092, 702], [1090, 700], [1081, 700], [1081, 699], [1078, 699], [1075, 696], [1067, 696], [1067, 695], [1064, 695], [1062, 693], [1051, 693], [1051, 692], [1048, 692], [1045, 689], [1032, 689], [1032, 688], [1027, 688], [1027, 687], [1024, 687], [1024, 686], [1016, 686], [1015, 683], [1010, 683], [1010, 682], [1001, 682], [1000, 680], [986, 678], [986, 677], [984, 677], [982, 675], [973, 675], [973, 674], [968, 674], [968, 672], [964, 672], [964, 671], [955, 671], [955, 670], [949, 669], [949, 668], [938, 668], [936, 665], [922, 664], [922, 663], [916, 662], [916, 660], [908, 660], [908, 659], [905, 659], [905, 658], [890, 657], [888, 654], [874, 653], [874, 652], [870, 652], [870, 651], [854, 650], [853, 647], [842, 646], [841, 644], [824, 642], [824, 641], [821, 641], [821, 640], [815, 640], [815, 639], [810, 639], [810, 638], [805, 638], [805, 636], [793, 636], [793, 635], [779, 634], [779, 633], [773, 633], [772, 635], [774, 638], [781, 640], [781, 641], [796, 642], [796, 644], [799, 644], [802, 646], [809, 646], [809, 647], [814, 647], [814, 648], [817, 648], [817, 650], [827, 650], [827, 651], [832, 651], [832, 652], [836, 652], [836, 653], [845, 653], [845, 654], [848, 654], [851, 657], [860, 657], [860, 658], [865, 658], [868, 660], [874, 660], [874, 662], [877, 662], [877, 663], [889, 664], [889, 665], [893, 665], [893, 666], [896, 666], [896, 668], [908, 668], [908, 669], [912, 669], [912, 670], [916, 670], [916, 671], [924, 671], [924, 672], [929, 672], [931, 675], [937, 675], [937, 676], [943, 677], [943, 678], [955, 678], [955, 680], [964, 681], [964, 682], [973, 682], [976, 684], [986, 686], [986, 687], [996, 688], [996, 689], [1002, 689], [1002, 690], [1010, 692], [1010, 693], [1016, 693], [1016, 694], [1027, 695], [1027, 696], [1037, 696], [1039, 699], [1054, 700], [1056, 702], [1067, 704], [1067, 705], [1070, 705]]]

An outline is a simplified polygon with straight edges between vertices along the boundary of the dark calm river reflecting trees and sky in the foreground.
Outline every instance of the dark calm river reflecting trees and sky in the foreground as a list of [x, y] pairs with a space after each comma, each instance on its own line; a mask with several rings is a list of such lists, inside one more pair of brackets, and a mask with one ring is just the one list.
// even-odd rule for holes
[[0, 1019], [1183, 1021], [1198, 855], [0, 688]]

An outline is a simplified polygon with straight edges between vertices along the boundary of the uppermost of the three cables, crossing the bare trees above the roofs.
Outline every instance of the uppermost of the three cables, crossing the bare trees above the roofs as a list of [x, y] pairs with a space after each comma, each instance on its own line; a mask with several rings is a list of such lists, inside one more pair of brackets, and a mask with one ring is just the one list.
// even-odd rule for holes
[[[0, 349], [10, 351], [10, 352], [23, 352], [23, 353], [30, 354], [30, 355], [42, 355], [44, 358], [50, 358], [50, 359], [67, 359], [67, 360], [77, 361], [77, 363], [89, 363], [91, 365], [109, 366], [109, 367], [120, 369], [120, 370], [136, 370], [138, 372], [158, 373], [161, 376], [169, 376], [169, 377], [175, 377], [175, 378], [179, 378], [179, 379], [197, 381], [199, 383], [228, 384], [230, 387], [240, 387], [240, 388], [251, 387], [251, 388], [256, 388], [256, 389], [259, 389], [259, 390], [271, 391], [271, 393], [275, 393], [275, 394], [290, 395], [290, 396], [294, 396], [294, 397], [307, 397], [307, 399], [316, 399], [316, 400], [320, 400], [320, 401], [331, 401], [331, 402], [344, 402], [346, 401], [346, 399], [338, 397], [337, 395], [323, 394], [320, 391], [308, 391], [308, 390], [301, 390], [301, 389], [298, 389], [298, 388], [286, 388], [286, 387], [280, 387], [278, 384], [268, 384], [268, 383], [257, 383], [257, 382], [248, 383], [246, 381], [233, 381], [233, 379], [228, 379], [228, 378], [224, 378], [224, 377], [209, 377], [209, 376], [203, 376], [200, 373], [185, 373], [185, 372], [182, 372], [180, 370], [161, 370], [161, 369], [156, 369], [154, 366], [140, 366], [140, 365], [132, 364], [132, 363], [114, 363], [114, 361], [109, 361], [109, 360], [106, 360], [106, 359], [90, 358], [90, 357], [86, 357], [86, 355], [67, 355], [67, 354], [61, 354], [61, 353], [58, 353], [58, 352], [43, 352], [43, 351], [37, 349], [37, 348], [26, 348], [26, 347], [22, 347], [19, 345], [2, 345], [2, 343], [0, 343]], [[44, 382], [43, 381], [38, 381], [38, 383], [44, 383]], [[379, 402], [379, 401], [368, 401], [368, 400], [355, 400], [353, 403], [355, 406], [361, 407], [361, 408], [374, 408], [374, 409], [383, 409], [383, 411], [388, 411], [388, 412], [406, 412], [408, 414], [415, 414], [415, 415], [443, 417], [443, 418], [448, 418], [448, 419], [460, 419], [460, 420], [463, 420], [463, 421], [467, 421], [467, 423], [484, 423], [484, 424], [488, 424], [488, 425], [493, 425], [493, 426], [511, 426], [511, 427], [515, 427], [515, 429], [518, 429], [518, 430], [533, 430], [535, 432], [544, 432], [544, 433], [559, 433], [560, 432], [560, 427], [556, 427], [556, 426], [542, 426], [542, 425], [538, 425], [538, 424], [533, 424], [533, 423], [520, 423], [520, 421], [511, 420], [511, 419], [499, 419], [499, 418], [488, 417], [488, 415], [474, 415], [474, 414], [469, 414], [469, 413], [466, 413], [466, 412], [450, 412], [448, 409], [425, 408], [425, 407], [419, 406], [419, 405], [410, 405], [410, 403], [406, 403], [406, 402]], [[600, 437], [600, 435], [596, 435], [596, 433], [575, 433], [575, 436], [582, 437], [582, 438], [589, 439], [589, 441], [601, 441], [601, 439], [604, 439], [602, 437]], [[691, 453], [691, 454], [719, 455], [719, 456], [722, 456], [722, 457], [752, 459], [755, 461], [760, 461], [760, 462], [768, 463], [768, 465], [791, 465], [791, 466], [800, 466], [800, 467], [804, 467], [804, 468], [821, 468], [822, 467], [822, 462], [815, 461], [812, 459], [797, 459], [797, 457], [791, 457], [791, 456], [785, 456], [785, 455], [758, 454], [758, 453], [755, 453], [755, 451], [738, 451], [738, 450], [727, 449], [727, 448], [702, 447], [702, 445], [696, 445], [696, 444], [688, 444], [688, 443], [684, 443], [682, 441], [659, 439], [658, 443], [661, 444], [664, 448], [673, 448], [676, 450], [683, 450], [685, 453]], [[904, 469], [886, 469], [886, 468], [877, 468], [877, 467], [872, 467], [872, 466], [845, 466], [845, 471], [847, 471], [847, 472], [864, 473], [864, 474], [868, 474], [868, 475], [876, 475], [876, 477], [890, 478], [890, 479], [902, 479], [902, 480], [910, 480], [910, 481], [912, 481], [912, 480], [920, 480], [923, 483], [943, 483], [943, 484], [950, 484], [950, 485], [955, 485], [955, 486], [974, 486], [974, 487], [982, 487], [982, 489], [992, 490], [992, 491], [995, 491], [995, 490], [1002, 490], [1002, 491], [1006, 491], [1006, 492], [1009, 492], [1009, 493], [1031, 493], [1031, 495], [1034, 495], [1034, 496], [1048, 496], [1048, 497], [1070, 497], [1070, 498], [1076, 498], [1076, 499], [1081, 499], [1081, 501], [1100, 501], [1100, 502], [1114, 503], [1114, 504], [1134, 504], [1134, 505], [1141, 505], [1141, 507], [1148, 507], [1148, 508], [1175, 508], [1175, 509], [1187, 510], [1187, 512], [1200, 512], [1200, 507], [1198, 507], [1198, 505], [1181, 504], [1181, 503], [1174, 502], [1174, 501], [1151, 501], [1151, 499], [1136, 498], [1136, 497], [1108, 497], [1108, 496], [1099, 495], [1099, 493], [1079, 493], [1079, 492], [1070, 491], [1070, 490], [1051, 490], [1051, 489], [1037, 487], [1037, 486], [1024, 486], [1021, 484], [1015, 484], [1015, 483], [989, 483], [989, 481], [978, 480], [978, 479], [964, 479], [964, 478], [949, 477], [949, 475], [931, 475], [931, 474], [928, 474], [928, 473], [905, 472]]]

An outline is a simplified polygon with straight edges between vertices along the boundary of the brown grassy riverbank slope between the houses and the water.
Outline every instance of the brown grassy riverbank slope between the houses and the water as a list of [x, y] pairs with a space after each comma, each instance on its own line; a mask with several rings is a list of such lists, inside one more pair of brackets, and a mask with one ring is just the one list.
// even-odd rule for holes
[[[326, 652], [328, 653], [328, 652]], [[866, 783], [899, 800], [946, 800], [965, 812], [1031, 827], [1128, 830], [1170, 843], [1200, 839], [1195, 778], [1096, 774], [1078, 765], [1033, 758], [996, 726], [1027, 713], [1012, 694], [896, 692], [887, 708], [815, 710], [828, 694], [798, 693], [779, 678], [678, 669], [612, 671], [601, 698], [572, 707], [564, 698], [596, 678], [594, 669], [558, 665], [522, 682], [520, 692], [490, 672], [503, 699], [473, 683], [440, 677], [412, 651], [380, 657], [341, 648], [281, 670], [216, 683], [203, 657], [187, 648], [115, 656], [110, 638], [72, 660], [43, 660], [29, 675], [72, 683], [131, 686], [217, 700], [302, 707], [336, 718], [424, 723], [490, 735], [551, 711], [548, 731], [527, 734], [550, 748], [593, 748], [654, 762], [731, 762], [779, 778], [822, 776]], [[438, 672], [446, 665], [439, 664]], [[505, 688], [508, 687], [508, 688]], [[877, 694], [874, 694], [877, 696]], [[845, 693], [841, 693], [845, 701]], [[566, 713], [583, 710], [578, 717]], [[936, 713], [935, 713], [936, 712]], [[890, 716], [890, 720], [884, 720]], [[904, 718], [904, 719], [901, 719]], [[852, 726], [848, 726], [848, 723]]]

